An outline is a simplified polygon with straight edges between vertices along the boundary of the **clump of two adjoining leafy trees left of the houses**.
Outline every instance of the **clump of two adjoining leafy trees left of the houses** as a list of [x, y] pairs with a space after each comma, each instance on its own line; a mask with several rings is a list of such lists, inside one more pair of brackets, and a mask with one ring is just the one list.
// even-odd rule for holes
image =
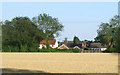
[[41, 40], [55, 39], [64, 28], [58, 18], [45, 13], [32, 19], [15, 17], [0, 24], [3, 52], [39, 52]]

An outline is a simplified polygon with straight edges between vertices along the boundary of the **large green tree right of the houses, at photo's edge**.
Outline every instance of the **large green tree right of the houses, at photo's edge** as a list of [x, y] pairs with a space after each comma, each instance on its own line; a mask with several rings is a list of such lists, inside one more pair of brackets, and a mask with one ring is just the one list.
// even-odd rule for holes
[[114, 16], [109, 23], [101, 23], [99, 29], [97, 30], [96, 41], [101, 42], [103, 45], [107, 45], [108, 49], [115, 48], [120, 49], [120, 26], [119, 26], [119, 16]]

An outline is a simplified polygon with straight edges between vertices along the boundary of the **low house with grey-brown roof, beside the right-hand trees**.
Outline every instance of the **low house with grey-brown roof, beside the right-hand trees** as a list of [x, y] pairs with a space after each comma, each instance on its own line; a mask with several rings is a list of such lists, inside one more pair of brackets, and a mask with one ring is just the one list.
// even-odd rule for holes
[[105, 51], [107, 49], [107, 46], [103, 46], [101, 43], [91, 43], [89, 48], [90, 50]]

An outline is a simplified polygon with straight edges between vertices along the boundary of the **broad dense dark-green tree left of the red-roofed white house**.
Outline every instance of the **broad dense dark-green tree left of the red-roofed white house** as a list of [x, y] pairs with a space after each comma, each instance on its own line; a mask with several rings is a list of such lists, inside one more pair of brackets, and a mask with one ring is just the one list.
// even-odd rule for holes
[[12, 51], [32, 51], [33, 47], [35, 50], [44, 37], [42, 30], [27, 17], [6, 20], [2, 25], [2, 33], [3, 50]]

